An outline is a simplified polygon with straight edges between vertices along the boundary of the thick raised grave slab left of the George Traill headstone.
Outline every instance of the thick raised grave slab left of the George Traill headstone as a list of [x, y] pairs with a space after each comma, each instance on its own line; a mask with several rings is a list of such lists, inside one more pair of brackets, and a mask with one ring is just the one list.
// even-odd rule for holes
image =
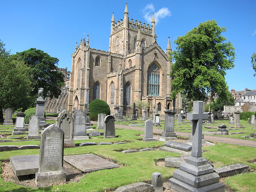
[[39, 166], [39, 155], [11, 156], [10, 162], [16, 176], [36, 174]]

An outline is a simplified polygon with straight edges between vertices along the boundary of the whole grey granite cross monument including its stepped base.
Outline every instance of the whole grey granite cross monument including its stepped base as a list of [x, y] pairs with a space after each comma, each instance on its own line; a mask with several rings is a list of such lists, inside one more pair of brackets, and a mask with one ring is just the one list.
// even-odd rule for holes
[[173, 172], [169, 179], [169, 187], [179, 192], [183, 191], [218, 191], [224, 192], [225, 186], [220, 183], [220, 176], [202, 156], [202, 121], [208, 119], [208, 113], [203, 113], [203, 101], [193, 102], [193, 111], [188, 113], [188, 120], [193, 121], [193, 144], [191, 156], [180, 169]]

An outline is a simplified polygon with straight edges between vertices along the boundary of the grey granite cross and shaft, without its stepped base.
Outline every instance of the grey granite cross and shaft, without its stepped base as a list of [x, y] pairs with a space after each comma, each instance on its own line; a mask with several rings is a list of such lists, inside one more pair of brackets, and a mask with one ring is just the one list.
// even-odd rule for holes
[[202, 121], [208, 119], [208, 113], [203, 113], [203, 101], [193, 101], [193, 111], [187, 114], [188, 121], [192, 121], [192, 151], [191, 156], [202, 156]]

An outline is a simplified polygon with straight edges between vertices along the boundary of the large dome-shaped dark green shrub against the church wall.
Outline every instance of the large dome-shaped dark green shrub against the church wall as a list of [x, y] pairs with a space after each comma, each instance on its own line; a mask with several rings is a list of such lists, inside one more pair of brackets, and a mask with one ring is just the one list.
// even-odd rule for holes
[[98, 114], [103, 113], [106, 115], [110, 115], [110, 108], [108, 103], [106, 103], [103, 100], [95, 99], [89, 104], [89, 110], [90, 110], [90, 120], [97, 121], [98, 120]]

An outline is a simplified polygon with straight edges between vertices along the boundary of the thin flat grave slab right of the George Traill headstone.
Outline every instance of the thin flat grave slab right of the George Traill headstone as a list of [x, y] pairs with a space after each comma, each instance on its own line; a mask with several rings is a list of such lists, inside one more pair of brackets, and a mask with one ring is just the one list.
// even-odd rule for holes
[[76, 167], [82, 172], [93, 172], [101, 169], [112, 169], [119, 167], [106, 159], [93, 154], [64, 156], [64, 161]]

